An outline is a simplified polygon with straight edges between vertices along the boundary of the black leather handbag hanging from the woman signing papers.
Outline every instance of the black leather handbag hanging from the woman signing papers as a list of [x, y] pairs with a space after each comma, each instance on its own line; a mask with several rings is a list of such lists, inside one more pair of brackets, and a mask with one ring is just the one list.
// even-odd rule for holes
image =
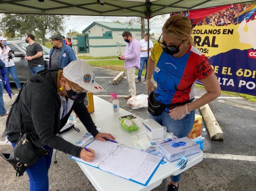
[[51, 154], [49, 150], [34, 145], [29, 133], [21, 133], [21, 136], [11, 154], [0, 153], [16, 170], [16, 176], [23, 176], [28, 167], [35, 165], [42, 157]]

